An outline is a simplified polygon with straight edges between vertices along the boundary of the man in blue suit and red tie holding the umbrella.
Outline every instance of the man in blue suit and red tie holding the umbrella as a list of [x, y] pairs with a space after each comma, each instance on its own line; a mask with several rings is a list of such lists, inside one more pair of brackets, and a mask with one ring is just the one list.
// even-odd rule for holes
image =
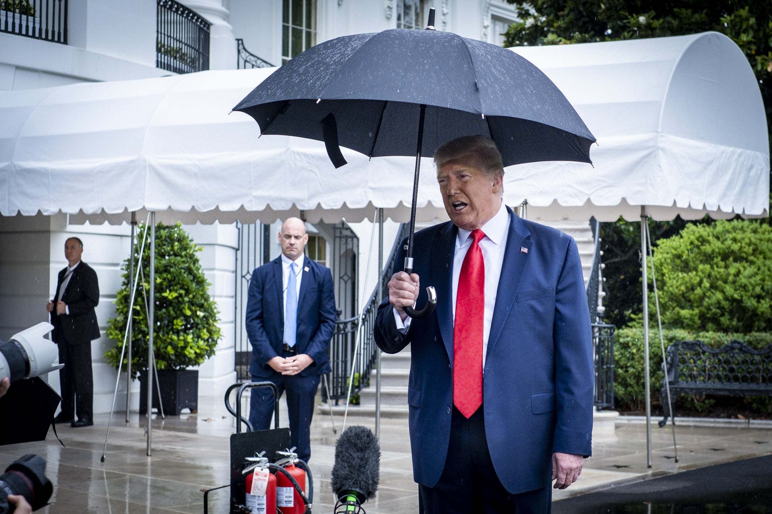
[[[421, 512], [550, 512], [591, 454], [594, 372], [576, 243], [503, 204], [490, 139], [439, 147], [450, 222], [415, 234], [414, 274], [398, 254], [375, 338], [410, 344], [413, 473]], [[419, 278], [437, 291], [435, 313]]]

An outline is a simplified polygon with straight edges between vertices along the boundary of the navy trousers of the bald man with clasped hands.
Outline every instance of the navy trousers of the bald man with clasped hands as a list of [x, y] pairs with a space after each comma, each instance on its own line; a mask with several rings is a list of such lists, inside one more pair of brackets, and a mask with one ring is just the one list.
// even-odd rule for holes
[[[286, 353], [286, 352], [283, 352]], [[289, 354], [283, 355], [288, 357]], [[253, 382], [272, 381], [279, 388], [279, 398], [287, 392], [287, 414], [289, 415], [289, 444], [297, 448], [299, 459], [308, 462], [311, 458], [311, 418], [314, 398], [319, 387], [319, 375], [281, 375], [274, 373], [270, 378], [252, 375]], [[249, 422], [255, 430], [273, 428], [273, 391], [269, 388], [252, 388], [249, 400]]]

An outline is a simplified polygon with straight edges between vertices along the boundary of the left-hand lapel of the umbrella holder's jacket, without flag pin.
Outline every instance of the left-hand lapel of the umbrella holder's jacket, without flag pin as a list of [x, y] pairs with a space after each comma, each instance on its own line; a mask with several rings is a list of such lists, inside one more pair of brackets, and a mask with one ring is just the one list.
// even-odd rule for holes
[[453, 223], [440, 232], [440, 237], [432, 242], [432, 285], [437, 291], [437, 322], [448, 352], [451, 366], [453, 365], [453, 250], [458, 230]]

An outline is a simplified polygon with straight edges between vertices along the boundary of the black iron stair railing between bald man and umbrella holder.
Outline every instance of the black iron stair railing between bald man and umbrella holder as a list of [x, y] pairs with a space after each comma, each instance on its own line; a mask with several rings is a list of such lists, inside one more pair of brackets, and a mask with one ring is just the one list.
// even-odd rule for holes
[[[388, 294], [388, 281], [391, 279], [391, 270], [394, 268], [394, 259], [397, 257], [398, 245], [401, 240], [408, 236], [408, 223], [402, 223], [399, 233], [394, 240], [394, 246], [391, 247], [391, 254], [384, 262], [384, 269], [381, 270], [381, 284], [383, 285], [384, 296]], [[357, 395], [362, 388], [367, 387], [370, 380], [370, 374], [373, 371], [376, 357], [378, 355], [378, 346], [375, 344], [373, 328], [375, 326], [375, 317], [378, 314], [378, 305], [383, 298], [378, 297], [378, 285], [374, 288], [373, 294], [367, 300], [362, 316], [362, 332], [357, 360], [354, 361], [354, 385], [351, 387], [351, 395]], [[330, 341], [330, 399], [338, 401], [346, 399], [348, 393], [348, 378], [351, 373], [351, 359], [354, 358], [354, 346], [357, 341], [357, 328], [359, 327], [359, 317], [349, 317], [340, 320], [335, 325], [335, 334]], [[322, 391], [322, 397], [327, 401], [327, 391]]]

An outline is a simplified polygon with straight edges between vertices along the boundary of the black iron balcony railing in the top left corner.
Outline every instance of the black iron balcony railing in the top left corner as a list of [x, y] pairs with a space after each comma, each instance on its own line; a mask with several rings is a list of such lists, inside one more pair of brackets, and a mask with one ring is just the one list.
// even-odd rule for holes
[[67, 0], [0, 0], [0, 32], [67, 44]]

